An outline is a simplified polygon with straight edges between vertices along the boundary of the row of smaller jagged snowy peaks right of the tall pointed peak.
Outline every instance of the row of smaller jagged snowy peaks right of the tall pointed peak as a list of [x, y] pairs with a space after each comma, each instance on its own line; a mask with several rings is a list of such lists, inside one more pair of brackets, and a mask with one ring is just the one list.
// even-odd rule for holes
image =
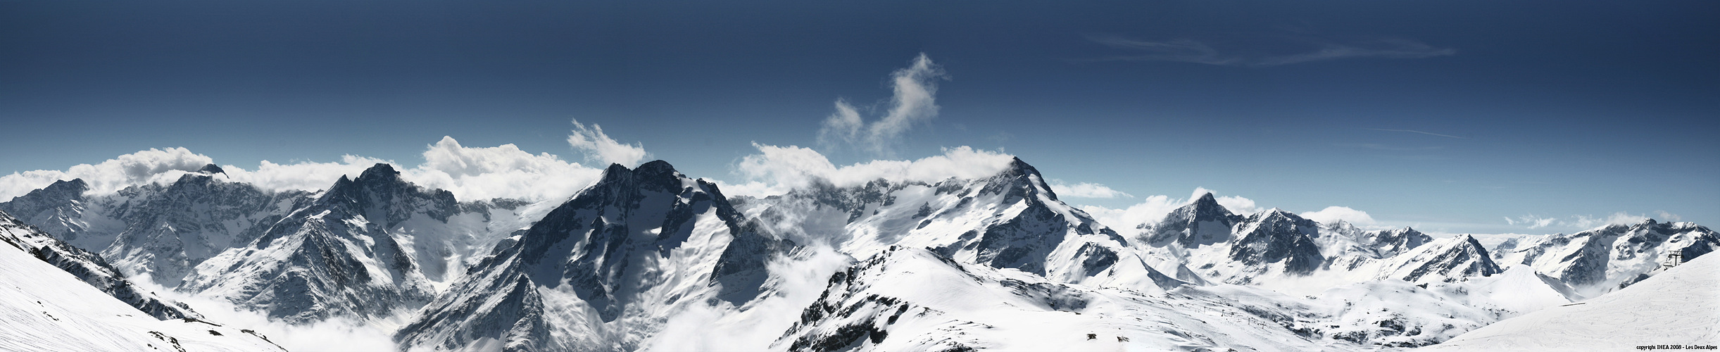
[[1144, 240], [1137, 249], [1159, 258], [1158, 270], [1195, 283], [1292, 285], [1305, 292], [1376, 278], [1462, 282], [1500, 273], [1472, 239], [1441, 242], [1407, 227], [1361, 230], [1281, 209], [1242, 216], [1213, 194], [1139, 228]]

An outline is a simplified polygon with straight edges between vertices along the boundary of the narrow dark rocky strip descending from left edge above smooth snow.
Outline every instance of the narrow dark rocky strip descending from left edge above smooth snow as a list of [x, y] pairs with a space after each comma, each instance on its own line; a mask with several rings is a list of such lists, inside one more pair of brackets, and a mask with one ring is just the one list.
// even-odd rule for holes
[[[157, 319], [182, 319], [182, 318], [203, 318], [196, 311], [191, 311], [186, 304], [162, 299], [155, 292], [132, 285], [126, 282], [126, 275], [114, 270], [100, 256], [72, 247], [58, 239], [50, 237], [36, 230], [36, 227], [26, 225], [12, 215], [0, 211], [0, 242], [10, 247], [0, 247], [0, 251], [22, 251], [43, 263], [52, 264], [65, 273], [71, 273], [77, 280], [83, 280], [89, 287], [126, 302], [136, 311], [143, 311]], [[14, 285], [28, 282], [12, 282]], [[34, 285], [34, 283], [29, 283]]]

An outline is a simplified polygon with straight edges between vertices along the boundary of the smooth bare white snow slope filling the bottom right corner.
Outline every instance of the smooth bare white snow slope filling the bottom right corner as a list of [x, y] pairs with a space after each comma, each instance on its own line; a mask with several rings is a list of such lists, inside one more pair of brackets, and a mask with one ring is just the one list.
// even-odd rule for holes
[[1720, 345], [1720, 258], [1705, 256], [1622, 290], [1464, 333], [1431, 350], [1634, 350]]

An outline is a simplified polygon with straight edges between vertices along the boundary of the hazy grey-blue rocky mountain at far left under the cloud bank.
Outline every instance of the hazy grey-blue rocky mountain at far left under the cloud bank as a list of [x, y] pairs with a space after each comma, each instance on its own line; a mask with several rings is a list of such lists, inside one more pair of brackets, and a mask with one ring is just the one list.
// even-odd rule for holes
[[[220, 172], [212, 167], [205, 170]], [[169, 185], [134, 185], [103, 196], [84, 196], [83, 180], [55, 182], [0, 203], [0, 209], [33, 211], [36, 216], [26, 223], [100, 252], [127, 275], [177, 287], [196, 264], [248, 244], [311, 199], [308, 192], [265, 192], [224, 177], [186, 173]]]

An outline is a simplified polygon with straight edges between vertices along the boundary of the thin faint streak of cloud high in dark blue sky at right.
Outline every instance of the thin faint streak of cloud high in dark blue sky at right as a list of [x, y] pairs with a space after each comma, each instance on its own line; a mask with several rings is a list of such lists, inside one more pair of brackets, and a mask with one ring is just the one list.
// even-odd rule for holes
[[1338, 58], [1428, 58], [1457, 53], [1453, 48], [1436, 48], [1404, 38], [1338, 41], [1309, 36], [1273, 36], [1269, 41], [1275, 43], [1269, 46], [1276, 50], [1249, 45], [1223, 45], [1226, 41], [1202, 41], [1190, 38], [1149, 41], [1115, 34], [1096, 34], [1087, 36], [1087, 39], [1111, 48], [1133, 52], [1097, 60], [1192, 62], [1242, 67], [1273, 67]]

